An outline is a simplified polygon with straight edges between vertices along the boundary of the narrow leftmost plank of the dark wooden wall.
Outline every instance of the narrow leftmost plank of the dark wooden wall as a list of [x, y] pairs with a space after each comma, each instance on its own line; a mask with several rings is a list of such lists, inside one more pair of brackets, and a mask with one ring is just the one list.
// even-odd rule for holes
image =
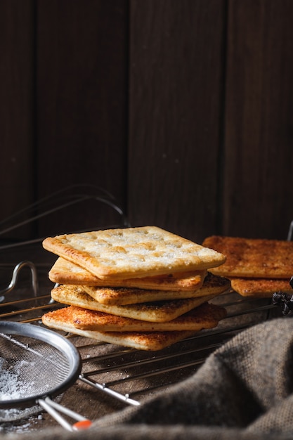
[[[0, 2], [0, 220], [28, 205], [34, 196], [32, 3]], [[13, 231], [18, 237], [28, 233], [30, 228]]]

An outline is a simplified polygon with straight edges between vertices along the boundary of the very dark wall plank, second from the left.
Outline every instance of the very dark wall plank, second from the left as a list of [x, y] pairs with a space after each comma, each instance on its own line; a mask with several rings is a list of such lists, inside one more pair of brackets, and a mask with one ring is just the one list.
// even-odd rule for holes
[[[39, 197], [86, 183], [124, 205], [127, 11], [124, 0], [38, 2]], [[53, 216], [50, 228], [76, 231], [110, 221], [117, 221], [112, 209], [92, 200]], [[43, 233], [50, 233], [46, 226]]]

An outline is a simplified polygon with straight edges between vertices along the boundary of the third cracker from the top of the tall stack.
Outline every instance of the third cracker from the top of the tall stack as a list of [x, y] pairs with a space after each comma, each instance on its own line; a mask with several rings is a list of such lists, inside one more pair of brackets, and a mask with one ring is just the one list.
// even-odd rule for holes
[[185, 290], [145, 290], [126, 287], [92, 287], [84, 285], [83, 289], [93, 299], [108, 305], [139, 304], [141, 302], [164, 301], [220, 295], [230, 288], [230, 280], [207, 274], [202, 287], [193, 292]]

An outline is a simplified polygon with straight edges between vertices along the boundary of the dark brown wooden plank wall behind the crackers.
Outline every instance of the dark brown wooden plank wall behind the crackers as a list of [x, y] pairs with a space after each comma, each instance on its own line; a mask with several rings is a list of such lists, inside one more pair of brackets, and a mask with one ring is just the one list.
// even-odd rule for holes
[[1, 236], [117, 224], [103, 188], [132, 226], [285, 239], [292, 23], [292, 0], [1, 0]]

